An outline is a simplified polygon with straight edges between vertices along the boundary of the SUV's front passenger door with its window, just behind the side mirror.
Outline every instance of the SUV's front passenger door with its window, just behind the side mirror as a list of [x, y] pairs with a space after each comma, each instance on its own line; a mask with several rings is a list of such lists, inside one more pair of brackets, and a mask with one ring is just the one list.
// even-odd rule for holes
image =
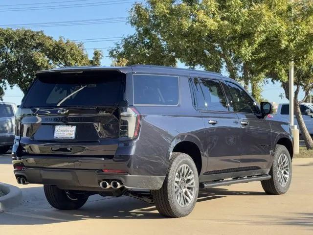
[[271, 129], [269, 121], [261, 117], [256, 102], [240, 86], [225, 82], [230, 109], [241, 125], [241, 171], [265, 169], [270, 161]]

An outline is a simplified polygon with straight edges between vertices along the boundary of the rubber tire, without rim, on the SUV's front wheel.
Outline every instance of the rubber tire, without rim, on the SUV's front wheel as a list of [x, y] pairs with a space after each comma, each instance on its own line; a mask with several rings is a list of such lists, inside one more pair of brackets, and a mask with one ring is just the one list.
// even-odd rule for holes
[[[289, 166], [289, 178], [285, 186], [282, 186], [280, 184], [279, 176], [278, 176], [278, 172], [279, 172], [278, 160], [281, 155], [287, 156], [288, 166]], [[291, 184], [292, 166], [291, 166], [290, 154], [284, 145], [280, 145], [280, 144], [276, 145], [273, 164], [272, 164], [272, 167], [270, 168], [269, 174], [271, 176], [269, 180], [261, 181], [264, 191], [272, 195], [280, 195], [280, 194], [286, 193]]]

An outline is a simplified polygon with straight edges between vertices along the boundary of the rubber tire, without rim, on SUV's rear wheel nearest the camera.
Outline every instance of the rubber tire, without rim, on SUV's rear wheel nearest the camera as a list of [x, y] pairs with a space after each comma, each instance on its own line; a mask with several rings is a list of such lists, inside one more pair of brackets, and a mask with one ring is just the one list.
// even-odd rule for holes
[[[183, 164], [189, 166], [194, 176], [194, 191], [193, 197], [189, 202], [189, 205], [184, 207], [179, 205], [175, 194], [175, 175], [179, 170], [179, 167]], [[190, 181], [189, 181], [190, 182]], [[187, 181], [184, 182], [187, 185]], [[186, 187], [187, 188], [187, 187]], [[186, 189], [185, 189], [186, 190]], [[166, 173], [166, 177], [162, 188], [158, 190], [151, 190], [154, 202], [156, 204], [157, 211], [160, 214], [167, 217], [183, 217], [194, 209], [199, 193], [199, 176], [197, 167], [192, 158], [185, 153], [173, 153], [169, 163], [169, 168]]]

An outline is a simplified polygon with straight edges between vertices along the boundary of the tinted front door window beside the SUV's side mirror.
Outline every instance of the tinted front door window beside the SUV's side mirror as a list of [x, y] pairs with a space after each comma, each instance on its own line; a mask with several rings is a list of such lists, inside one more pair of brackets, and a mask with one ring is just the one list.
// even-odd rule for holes
[[231, 96], [230, 103], [234, 112], [260, 114], [258, 106], [246, 92], [234, 83], [226, 82]]

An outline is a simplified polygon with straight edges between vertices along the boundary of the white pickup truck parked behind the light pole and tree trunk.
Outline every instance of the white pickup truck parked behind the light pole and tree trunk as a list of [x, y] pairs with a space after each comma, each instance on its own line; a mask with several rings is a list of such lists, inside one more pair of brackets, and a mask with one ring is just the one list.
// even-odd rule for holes
[[[310, 135], [313, 137], [313, 104], [312, 103], [301, 103], [300, 110], [305, 122], [305, 125], [308, 128]], [[279, 104], [276, 112], [276, 118], [283, 118], [289, 121], [289, 104]], [[294, 125], [299, 125], [297, 119], [294, 116]], [[301, 134], [301, 132], [300, 132]]]

